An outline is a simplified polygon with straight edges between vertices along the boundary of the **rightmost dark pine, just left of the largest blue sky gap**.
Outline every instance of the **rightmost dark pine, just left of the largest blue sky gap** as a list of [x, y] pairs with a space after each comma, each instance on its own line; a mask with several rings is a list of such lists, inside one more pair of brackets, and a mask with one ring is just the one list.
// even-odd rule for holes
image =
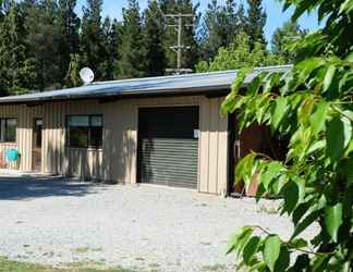
[[247, 5], [246, 33], [249, 36], [251, 48], [254, 48], [257, 41], [266, 44], [264, 27], [267, 15], [261, 0], [247, 0]]

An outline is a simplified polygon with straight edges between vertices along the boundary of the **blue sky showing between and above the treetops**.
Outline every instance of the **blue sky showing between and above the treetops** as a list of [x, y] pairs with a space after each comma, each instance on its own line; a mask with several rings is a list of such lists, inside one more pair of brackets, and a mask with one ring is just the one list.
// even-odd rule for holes
[[[219, 3], [224, 2], [224, 0], [218, 0]], [[85, 4], [86, 0], [78, 0], [77, 1], [77, 13], [81, 15], [82, 13], [82, 5]], [[115, 17], [121, 20], [122, 14], [121, 10], [123, 7], [126, 7], [126, 0], [104, 0], [104, 16], [109, 15], [110, 17]], [[141, 0], [138, 1], [139, 7], [145, 9], [147, 5], [148, 0]], [[208, 2], [207, 0], [194, 0], [195, 3], [199, 2], [199, 11], [203, 12]], [[239, 3], [245, 2], [245, 0], [239, 0]], [[278, 0], [263, 0], [264, 8], [267, 12], [267, 24], [265, 27], [265, 34], [267, 40], [270, 40], [275, 29], [280, 27], [285, 21], [290, 18], [291, 11], [282, 13], [281, 4]], [[317, 15], [316, 14], [306, 14], [300, 18], [300, 25], [303, 28], [307, 28], [309, 30], [314, 30], [318, 27], [317, 24]]]

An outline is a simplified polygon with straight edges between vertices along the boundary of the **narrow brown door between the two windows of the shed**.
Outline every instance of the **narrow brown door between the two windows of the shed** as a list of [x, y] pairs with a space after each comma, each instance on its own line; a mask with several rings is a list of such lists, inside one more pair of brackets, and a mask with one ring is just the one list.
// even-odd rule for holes
[[42, 120], [35, 119], [33, 125], [33, 150], [32, 150], [32, 170], [41, 171], [41, 134]]

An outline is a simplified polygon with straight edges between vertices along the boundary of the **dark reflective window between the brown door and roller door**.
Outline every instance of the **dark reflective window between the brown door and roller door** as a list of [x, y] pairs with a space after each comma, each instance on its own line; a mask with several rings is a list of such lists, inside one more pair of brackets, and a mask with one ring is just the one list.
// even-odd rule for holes
[[66, 118], [66, 144], [69, 147], [101, 148], [101, 115], [70, 115]]

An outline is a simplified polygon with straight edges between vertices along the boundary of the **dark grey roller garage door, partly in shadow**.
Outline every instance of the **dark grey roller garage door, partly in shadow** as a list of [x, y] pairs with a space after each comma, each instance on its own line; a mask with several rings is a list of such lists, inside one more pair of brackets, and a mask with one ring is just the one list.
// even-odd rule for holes
[[138, 181], [197, 187], [198, 107], [138, 111]]

